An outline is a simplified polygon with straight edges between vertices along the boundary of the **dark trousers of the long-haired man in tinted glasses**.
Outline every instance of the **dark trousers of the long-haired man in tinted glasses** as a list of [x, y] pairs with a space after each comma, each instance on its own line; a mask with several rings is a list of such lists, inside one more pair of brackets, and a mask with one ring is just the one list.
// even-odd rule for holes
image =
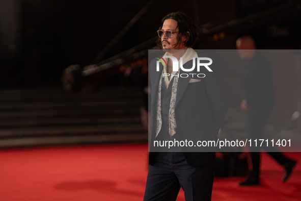
[[148, 171], [144, 200], [176, 200], [181, 187], [186, 201], [211, 200], [213, 179], [214, 163], [192, 167], [182, 152], [156, 153]]

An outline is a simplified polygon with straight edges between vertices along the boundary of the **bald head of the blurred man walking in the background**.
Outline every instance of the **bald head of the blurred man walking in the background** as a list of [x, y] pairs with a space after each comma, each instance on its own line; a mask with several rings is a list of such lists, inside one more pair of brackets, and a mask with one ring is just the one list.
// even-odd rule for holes
[[241, 36], [236, 40], [236, 48], [241, 59], [250, 59], [255, 53], [255, 41], [251, 36]]

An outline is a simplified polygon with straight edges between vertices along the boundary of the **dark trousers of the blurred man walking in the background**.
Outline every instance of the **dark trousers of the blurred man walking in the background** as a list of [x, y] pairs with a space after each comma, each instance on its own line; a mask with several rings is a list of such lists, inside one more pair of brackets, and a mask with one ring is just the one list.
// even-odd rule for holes
[[[263, 148], [273, 159], [283, 165], [288, 162], [289, 159], [284, 156], [279, 150], [271, 144], [266, 146], [266, 143], [262, 143], [259, 139], [265, 139], [263, 131], [268, 120], [271, 108], [269, 107], [250, 107], [248, 110], [248, 125], [249, 125], [249, 138], [252, 139], [252, 145], [250, 147], [251, 161], [252, 161], [252, 172], [251, 176], [259, 177], [259, 166], [260, 166], [260, 149]], [[254, 140], [257, 139], [257, 146], [255, 146]]]

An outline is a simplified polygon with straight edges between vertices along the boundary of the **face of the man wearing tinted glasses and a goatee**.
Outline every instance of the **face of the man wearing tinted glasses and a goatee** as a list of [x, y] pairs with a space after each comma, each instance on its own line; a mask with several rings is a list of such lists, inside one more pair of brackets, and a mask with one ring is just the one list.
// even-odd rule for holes
[[163, 34], [161, 38], [163, 49], [179, 49], [179, 45], [175, 47], [175, 44], [178, 42], [177, 36], [179, 34], [178, 33], [179, 28], [177, 26], [178, 26], [178, 22], [174, 19], [166, 19], [163, 22], [163, 26], [162, 26], [163, 31], [176, 32], [173, 33], [170, 38], [168, 38], [165, 33]]

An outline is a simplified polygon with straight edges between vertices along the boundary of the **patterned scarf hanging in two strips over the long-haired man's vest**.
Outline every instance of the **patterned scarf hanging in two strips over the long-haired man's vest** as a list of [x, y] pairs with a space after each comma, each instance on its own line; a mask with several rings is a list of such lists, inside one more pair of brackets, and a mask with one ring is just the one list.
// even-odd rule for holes
[[[169, 108], [169, 135], [172, 137], [176, 134], [176, 115], [175, 115], [175, 106], [176, 106], [176, 97], [177, 97], [177, 89], [178, 89], [178, 81], [179, 77], [177, 76], [179, 73], [176, 72], [174, 75], [174, 82], [172, 86], [172, 95], [171, 95], [171, 102]], [[159, 86], [158, 86], [158, 98], [157, 98], [157, 118], [156, 118], [156, 137], [159, 134], [161, 127], [162, 127], [162, 117], [161, 117], [161, 88], [162, 88], [162, 75], [160, 77]]]

